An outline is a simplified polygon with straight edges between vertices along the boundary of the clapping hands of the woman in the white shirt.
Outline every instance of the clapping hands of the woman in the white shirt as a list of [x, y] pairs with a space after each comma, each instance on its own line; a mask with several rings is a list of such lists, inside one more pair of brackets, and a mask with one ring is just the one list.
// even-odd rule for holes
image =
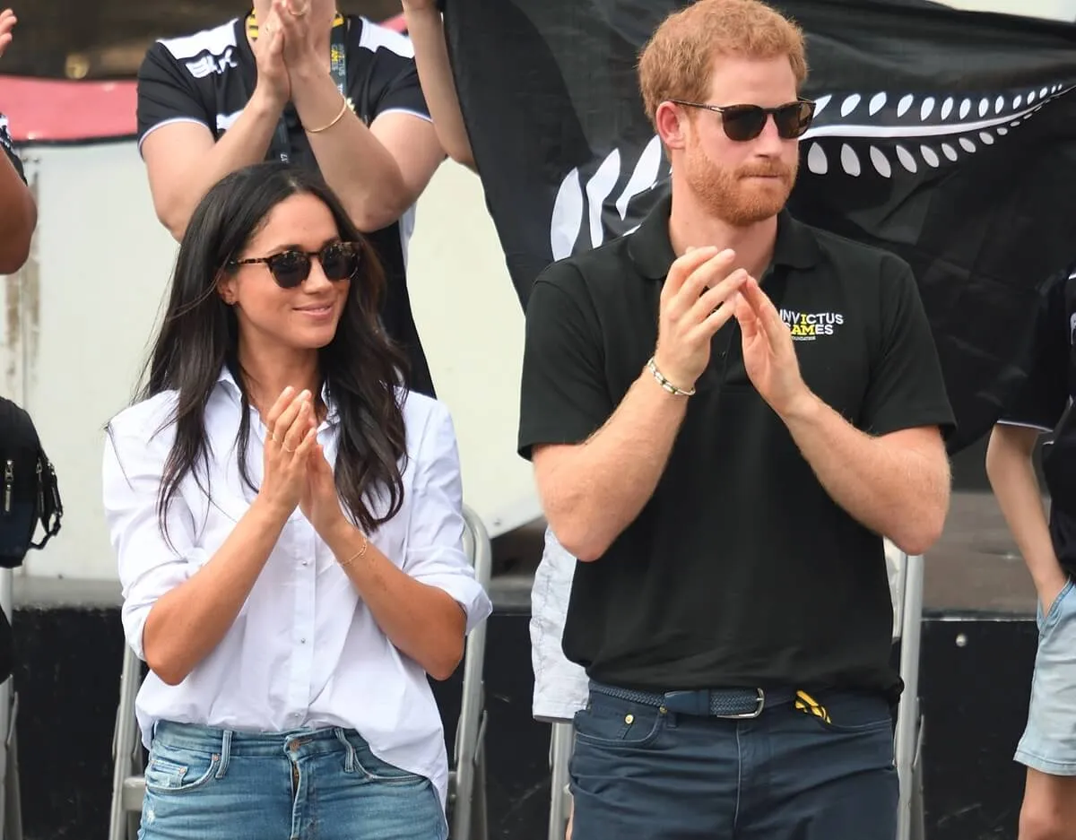
[[285, 518], [298, 507], [314, 530], [326, 535], [343, 519], [343, 509], [332, 467], [317, 442], [317, 423], [311, 393], [284, 388], [266, 417], [258, 496]]

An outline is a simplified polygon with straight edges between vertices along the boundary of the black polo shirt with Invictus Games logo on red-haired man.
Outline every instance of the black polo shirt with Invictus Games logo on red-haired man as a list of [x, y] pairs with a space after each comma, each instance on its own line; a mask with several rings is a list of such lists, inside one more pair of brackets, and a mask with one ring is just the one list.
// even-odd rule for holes
[[[524, 457], [536, 444], [585, 440], [643, 370], [675, 259], [669, 211], [666, 199], [634, 233], [554, 264], [535, 283]], [[949, 430], [905, 262], [783, 212], [762, 286], [791, 325], [808, 387], [854, 426]], [[650, 501], [605, 556], [577, 564], [568, 658], [592, 679], [657, 690], [896, 688], [882, 539], [830, 498], [755, 391], [735, 319], [714, 337], [696, 390], [678, 398], [689, 400], [686, 416]]]

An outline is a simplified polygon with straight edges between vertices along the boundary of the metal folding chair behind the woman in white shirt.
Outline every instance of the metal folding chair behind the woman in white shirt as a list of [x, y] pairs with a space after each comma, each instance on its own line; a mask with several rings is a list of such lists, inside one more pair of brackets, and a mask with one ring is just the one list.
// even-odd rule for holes
[[[489, 592], [493, 574], [493, 547], [482, 519], [464, 507], [464, 551], [475, 567], [475, 576]], [[0, 590], [2, 593], [2, 590]], [[463, 700], [456, 725], [456, 742], [449, 771], [449, 813], [453, 840], [486, 840], [489, 837], [485, 785], [485, 661], [486, 623], [467, 637], [464, 656]], [[142, 663], [130, 645], [124, 645], [119, 677], [119, 706], [112, 741], [115, 766], [112, 773], [112, 815], [109, 840], [138, 837], [145, 797], [145, 758], [134, 716], [134, 700], [142, 683]], [[5, 838], [8, 840], [8, 838]], [[22, 840], [22, 834], [14, 840]]]

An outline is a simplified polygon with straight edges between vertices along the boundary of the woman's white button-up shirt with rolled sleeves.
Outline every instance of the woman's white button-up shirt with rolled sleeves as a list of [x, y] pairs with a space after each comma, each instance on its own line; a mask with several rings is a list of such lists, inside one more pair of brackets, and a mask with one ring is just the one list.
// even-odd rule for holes
[[[168, 514], [157, 495], [174, 440], [175, 393], [123, 411], [111, 424], [103, 464], [104, 511], [123, 585], [128, 644], [145, 658], [142, 631], [154, 603], [195, 574], [220, 549], [254, 493], [239, 475], [239, 389], [225, 370], [206, 407], [209, 483], [188, 474]], [[247, 455], [261, 479], [265, 427], [251, 409]], [[463, 551], [459, 458], [448, 410], [410, 393], [404, 405], [407, 468], [404, 506], [370, 538], [415, 580], [451, 595], [467, 613], [468, 632], [490, 600]], [[317, 430], [336, 462], [337, 415]], [[444, 803], [448, 756], [426, 673], [381, 631], [331, 551], [296, 509], [235, 624], [179, 685], [151, 672], [138, 695], [142, 740], [157, 721], [246, 731], [354, 728], [374, 755], [428, 778]]]

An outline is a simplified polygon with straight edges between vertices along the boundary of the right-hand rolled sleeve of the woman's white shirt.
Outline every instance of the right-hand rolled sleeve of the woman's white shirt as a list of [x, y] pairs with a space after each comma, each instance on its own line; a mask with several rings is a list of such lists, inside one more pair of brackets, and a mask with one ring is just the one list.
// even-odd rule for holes
[[467, 615], [467, 631], [493, 611], [463, 552], [463, 481], [448, 410], [435, 403], [415, 456], [413, 512], [404, 571], [452, 596]]

